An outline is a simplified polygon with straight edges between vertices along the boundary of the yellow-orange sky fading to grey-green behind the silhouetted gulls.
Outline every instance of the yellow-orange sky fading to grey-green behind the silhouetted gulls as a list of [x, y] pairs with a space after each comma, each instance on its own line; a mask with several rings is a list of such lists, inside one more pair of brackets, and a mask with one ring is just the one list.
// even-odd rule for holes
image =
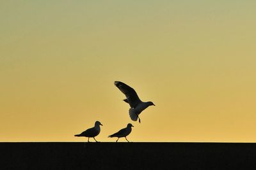
[[[256, 1], [1, 1], [0, 141], [256, 142]], [[129, 106], [113, 84], [142, 101]], [[125, 139], [120, 139], [125, 141]]]

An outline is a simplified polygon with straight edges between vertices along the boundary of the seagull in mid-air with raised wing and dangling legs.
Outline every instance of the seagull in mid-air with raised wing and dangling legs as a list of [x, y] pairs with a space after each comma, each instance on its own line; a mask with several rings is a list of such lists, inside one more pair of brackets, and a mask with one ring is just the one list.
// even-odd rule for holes
[[152, 101], [141, 101], [138, 95], [136, 94], [135, 90], [129, 87], [129, 85], [126, 85], [121, 81], [115, 81], [114, 84], [119, 90], [121, 90], [121, 92], [125, 94], [126, 99], [124, 99], [124, 101], [126, 103], [129, 103], [131, 106], [131, 108], [129, 109], [129, 115], [131, 117], [131, 120], [137, 121], [141, 111], [145, 110], [148, 106], [156, 106], [154, 103], [152, 103]]

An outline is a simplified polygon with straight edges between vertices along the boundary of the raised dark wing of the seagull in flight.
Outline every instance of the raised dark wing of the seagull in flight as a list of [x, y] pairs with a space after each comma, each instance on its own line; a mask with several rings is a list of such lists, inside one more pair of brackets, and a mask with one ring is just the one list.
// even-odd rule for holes
[[[140, 98], [136, 94], [135, 90], [129, 87], [129, 85], [126, 85], [125, 83], [122, 83], [121, 81], [115, 81], [115, 86], [125, 94], [128, 103], [130, 104], [131, 108], [135, 108], [138, 103], [141, 102]], [[125, 101], [125, 102], [127, 102]]]

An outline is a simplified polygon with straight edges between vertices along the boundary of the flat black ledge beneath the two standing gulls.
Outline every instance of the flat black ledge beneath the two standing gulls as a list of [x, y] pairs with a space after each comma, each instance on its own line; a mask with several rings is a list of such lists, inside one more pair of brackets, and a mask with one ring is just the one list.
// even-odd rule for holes
[[1, 169], [255, 169], [256, 143], [0, 143]]

